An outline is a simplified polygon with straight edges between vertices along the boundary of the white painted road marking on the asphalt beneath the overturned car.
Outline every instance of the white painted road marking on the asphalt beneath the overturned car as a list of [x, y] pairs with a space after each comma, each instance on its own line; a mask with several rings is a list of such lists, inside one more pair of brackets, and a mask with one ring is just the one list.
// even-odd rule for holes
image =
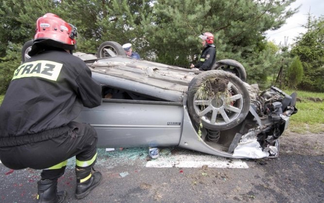
[[148, 168], [200, 168], [202, 166], [209, 168], [239, 168], [248, 169], [249, 166], [241, 159], [226, 159], [219, 156], [208, 155], [171, 155], [159, 156], [156, 159], [148, 161], [145, 167]]

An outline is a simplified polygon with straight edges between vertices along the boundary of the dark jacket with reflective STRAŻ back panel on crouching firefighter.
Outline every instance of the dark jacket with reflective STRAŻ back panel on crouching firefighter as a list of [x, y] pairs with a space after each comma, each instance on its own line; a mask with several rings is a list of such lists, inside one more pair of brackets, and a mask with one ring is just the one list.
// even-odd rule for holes
[[62, 50], [43, 51], [14, 73], [0, 106], [0, 147], [58, 137], [83, 106], [101, 102], [101, 86], [85, 62]]

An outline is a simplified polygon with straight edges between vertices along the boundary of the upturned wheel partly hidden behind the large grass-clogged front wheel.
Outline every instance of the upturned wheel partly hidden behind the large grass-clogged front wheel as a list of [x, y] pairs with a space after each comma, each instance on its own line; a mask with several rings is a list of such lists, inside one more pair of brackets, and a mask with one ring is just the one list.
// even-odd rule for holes
[[212, 70], [223, 70], [226, 72], [234, 73], [242, 81], [246, 80], [246, 72], [244, 66], [232, 59], [224, 59], [218, 62], [215, 62], [211, 67]]

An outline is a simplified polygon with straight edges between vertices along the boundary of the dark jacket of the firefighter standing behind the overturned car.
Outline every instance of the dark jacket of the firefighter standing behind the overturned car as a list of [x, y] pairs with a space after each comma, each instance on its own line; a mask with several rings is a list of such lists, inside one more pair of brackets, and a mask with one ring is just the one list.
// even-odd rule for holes
[[202, 55], [200, 56], [200, 60], [197, 64], [195, 64], [195, 68], [199, 70], [211, 70], [211, 67], [216, 61], [216, 48], [215, 45], [207, 45], [204, 48]]

